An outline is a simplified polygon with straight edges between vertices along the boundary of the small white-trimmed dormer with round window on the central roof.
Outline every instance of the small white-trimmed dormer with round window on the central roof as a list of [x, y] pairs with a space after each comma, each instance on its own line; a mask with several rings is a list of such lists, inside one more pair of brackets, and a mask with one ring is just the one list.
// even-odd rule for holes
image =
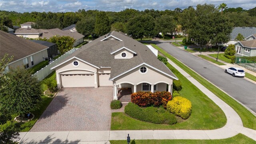
[[137, 53], [130, 50], [129, 48], [122, 47], [115, 51], [112, 49], [112, 52], [110, 54], [114, 54], [115, 59], [129, 59], [133, 58], [134, 54]]

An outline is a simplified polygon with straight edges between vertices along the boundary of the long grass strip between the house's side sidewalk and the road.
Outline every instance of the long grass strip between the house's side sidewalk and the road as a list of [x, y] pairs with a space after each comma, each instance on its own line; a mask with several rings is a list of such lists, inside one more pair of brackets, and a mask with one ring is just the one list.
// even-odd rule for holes
[[168, 52], [164, 51], [162, 48], [156, 46], [156, 44], [151, 44], [156, 48], [158, 51], [160, 51], [162, 54], [164, 54], [167, 58], [172, 60], [175, 64], [177, 64], [180, 68], [182, 68], [185, 72], [190, 74], [194, 79], [196, 79], [200, 84], [205, 86], [208, 90], [210, 90], [212, 93], [214, 93], [216, 96], [218, 96], [220, 99], [222, 99], [224, 102], [226, 102], [229, 106], [231, 106], [240, 116], [242, 119], [243, 125], [246, 128], [251, 128], [253, 130], [256, 130], [256, 116], [254, 116], [249, 110], [247, 110], [244, 106], [236, 102], [233, 98], [228, 96], [226, 93], [222, 92], [220, 89], [218, 89], [216, 86], [212, 85], [210, 82], [196, 74], [193, 70], [182, 64], [180, 61], [178, 61], [176, 58], [168, 54]]

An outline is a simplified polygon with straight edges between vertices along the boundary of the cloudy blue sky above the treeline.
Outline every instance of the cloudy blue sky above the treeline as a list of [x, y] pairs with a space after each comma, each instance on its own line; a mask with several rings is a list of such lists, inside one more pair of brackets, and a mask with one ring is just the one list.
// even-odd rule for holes
[[256, 7], [255, 0], [0, 0], [0, 10], [16, 12], [76, 12], [79, 9], [119, 12], [126, 8], [136, 10], [174, 10], [195, 7], [197, 4], [226, 3], [228, 8]]

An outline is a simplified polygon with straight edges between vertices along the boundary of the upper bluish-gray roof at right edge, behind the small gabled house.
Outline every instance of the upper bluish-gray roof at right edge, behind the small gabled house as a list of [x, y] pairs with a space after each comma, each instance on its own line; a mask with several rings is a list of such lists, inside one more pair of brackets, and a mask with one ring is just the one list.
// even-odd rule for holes
[[255, 27], [234, 27], [230, 34], [230, 39], [231, 40], [236, 39], [236, 36], [238, 34], [242, 34], [244, 38], [247, 38], [252, 34], [256, 34], [256, 28]]

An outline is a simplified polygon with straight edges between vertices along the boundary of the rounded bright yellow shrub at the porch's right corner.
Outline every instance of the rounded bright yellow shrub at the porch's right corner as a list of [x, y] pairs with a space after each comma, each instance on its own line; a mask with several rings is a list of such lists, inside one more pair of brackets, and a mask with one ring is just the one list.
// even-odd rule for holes
[[181, 96], [176, 96], [167, 103], [166, 109], [173, 114], [180, 116], [183, 119], [189, 118], [192, 111], [190, 100]]

